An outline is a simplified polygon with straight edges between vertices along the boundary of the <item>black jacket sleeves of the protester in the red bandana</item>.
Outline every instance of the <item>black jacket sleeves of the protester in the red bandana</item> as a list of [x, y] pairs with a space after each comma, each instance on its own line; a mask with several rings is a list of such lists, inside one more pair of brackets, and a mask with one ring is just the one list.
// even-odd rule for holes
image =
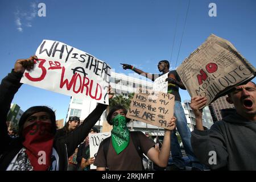
[[[7, 133], [6, 118], [10, 109], [11, 101], [20, 86], [22, 74], [12, 71], [3, 78], [0, 85], [0, 170], [6, 170], [14, 156], [18, 154], [22, 146], [22, 140], [18, 138], [10, 138]], [[53, 147], [59, 155], [59, 170], [68, 169], [68, 157], [71, 156], [77, 146], [89, 134], [90, 129], [95, 125], [107, 105], [98, 104], [96, 109], [85, 118], [84, 122], [76, 129], [76, 131], [65, 137], [55, 138]]]

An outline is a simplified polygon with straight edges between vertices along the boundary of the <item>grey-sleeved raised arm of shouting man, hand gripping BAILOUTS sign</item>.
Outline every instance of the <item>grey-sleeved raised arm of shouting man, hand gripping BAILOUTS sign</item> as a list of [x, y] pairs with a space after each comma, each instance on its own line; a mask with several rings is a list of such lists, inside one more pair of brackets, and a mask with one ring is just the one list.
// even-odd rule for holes
[[196, 117], [196, 129], [191, 133], [191, 145], [196, 157], [201, 163], [212, 169], [225, 167], [228, 162], [228, 152], [220, 125], [214, 123], [209, 130], [204, 130], [202, 109], [207, 102], [205, 97], [192, 97], [191, 108]]

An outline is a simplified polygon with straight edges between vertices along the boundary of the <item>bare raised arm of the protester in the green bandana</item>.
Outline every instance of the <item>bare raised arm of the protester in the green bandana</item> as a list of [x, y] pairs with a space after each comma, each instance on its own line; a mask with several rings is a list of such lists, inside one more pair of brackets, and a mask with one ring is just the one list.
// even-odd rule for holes
[[147, 152], [148, 158], [150, 158], [154, 163], [156, 163], [160, 167], [166, 167], [168, 164], [168, 159], [170, 156], [170, 148], [171, 148], [171, 131], [176, 127], [176, 118], [173, 117], [171, 121], [168, 123], [171, 126], [171, 130], [164, 130], [164, 139], [163, 145], [160, 150], [156, 150], [155, 147], [151, 147]]

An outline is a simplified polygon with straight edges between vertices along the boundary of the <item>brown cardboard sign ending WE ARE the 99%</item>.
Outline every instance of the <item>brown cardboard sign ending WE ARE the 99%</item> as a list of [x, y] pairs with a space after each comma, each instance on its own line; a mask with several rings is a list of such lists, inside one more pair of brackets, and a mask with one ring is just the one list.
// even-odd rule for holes
[[170, 93], [137, 89], [126, 117], [170, 129], [168, 122], [174, 115], [174, 101]]

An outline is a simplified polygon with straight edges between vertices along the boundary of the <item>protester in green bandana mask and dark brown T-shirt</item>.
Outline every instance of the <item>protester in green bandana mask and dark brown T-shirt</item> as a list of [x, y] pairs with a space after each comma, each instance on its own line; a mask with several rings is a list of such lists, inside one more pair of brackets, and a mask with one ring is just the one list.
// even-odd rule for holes
[[94, 162], [98, 171], [104, 171], [109, 168], [110, 171], [125, 170], [142, 170], [142, 159], [138, 154], [137, 148], [133, 141], [136, 133], [141, 147], [141, 151], [160, 167], [166, 167], [168, 164], [170, 147], [171, 147], [171, 131], [176, 127], [176, 118], [173, 117], [168, 123], [172, 130], [165, 130], [162, 150], [159, 152], [155, 148], [155, 143], [148, 139], [141, 131], [129, 131], [127, 123], [130, 119], [126, 118], [127, 110], [121, 105], [115, 105], [107, 116], [107, 121], [113, 125], [108, 150], [104, 149], [106, 139], [101, 142], [98, 153]]

